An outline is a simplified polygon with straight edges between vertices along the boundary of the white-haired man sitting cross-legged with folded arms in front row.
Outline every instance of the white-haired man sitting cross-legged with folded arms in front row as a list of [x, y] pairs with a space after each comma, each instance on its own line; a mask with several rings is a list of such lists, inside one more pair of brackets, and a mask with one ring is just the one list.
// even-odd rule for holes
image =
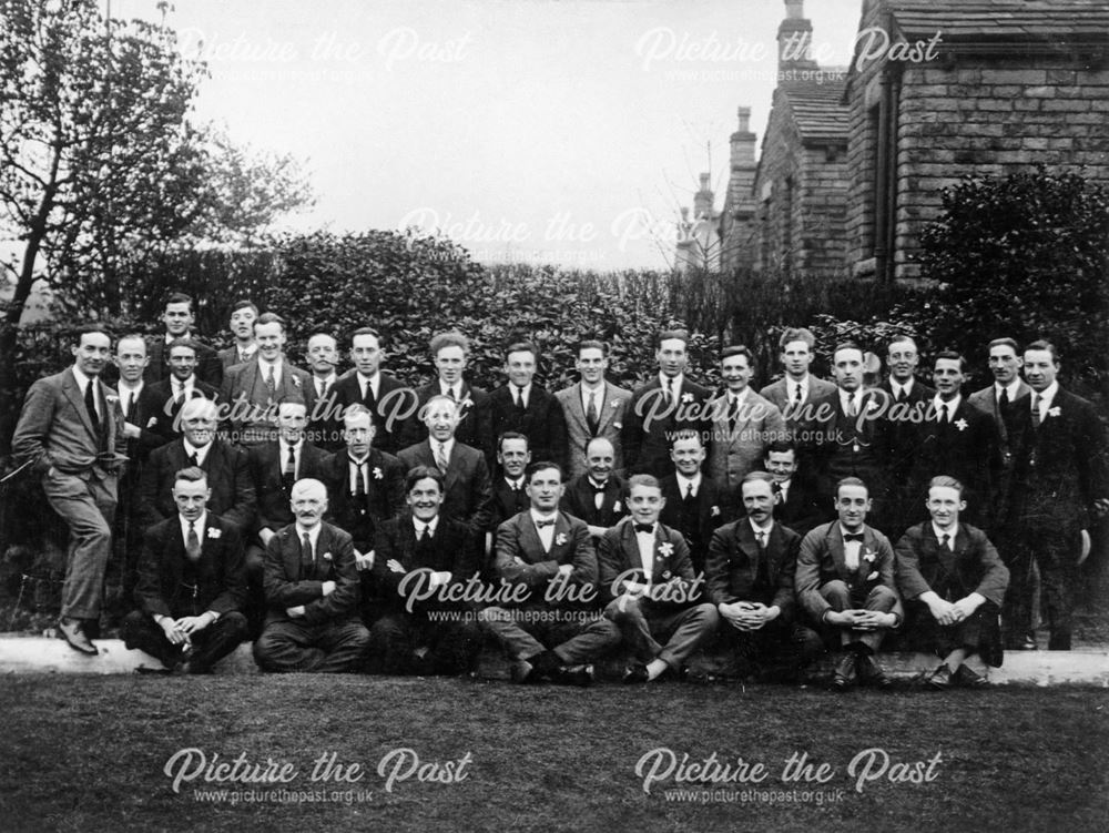
[[355, 671], [369, 646], [369, 631], [358, 617], [350, 536], [324, 522], [327, 489], [319, 480], [298, 480], [292, 507], [296, 521], [266, 546], [269, 609], [254, 659], [263, 671]]

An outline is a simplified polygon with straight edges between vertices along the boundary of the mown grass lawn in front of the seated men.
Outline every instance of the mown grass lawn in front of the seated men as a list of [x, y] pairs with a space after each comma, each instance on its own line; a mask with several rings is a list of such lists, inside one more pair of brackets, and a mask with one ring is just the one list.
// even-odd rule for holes
[[[6, 831], [1109, 829], [1102, 690], [836, 697], [770, 685], [580, 691], [306, 675], [9, 677], [0, 710]], [[175, 793], [163, 770], [190, 748], [199, 752], [177, 758]], [[879, 772], [884, 759], [874, 753], [874, 780], [857, 792], [861, 773], [856, 765], [851, 775], [848, 764], [874, 748], [889, 766]], [[418, 766], [400, 749], [413, 750]], [[733, 773], [742, 758], [763, 764], [765, 776], [680, 782], [665, 776], [670, 759], [659, 752], [644, 764], [657, 765], [648, 794], [637, 764], [659, 749], [678, 763], [715, 753]], [[244, 753], [240, 772], [261, 776], [269, 759], [271, 774], [291, 765], [286, 781], [204, 781], [205, 765], [214, 772]], [[343, 773], [354, 783], [312, 781], [314, 763], [332, 753], [343, 768], [360, 764], [360, 773]], [[828, 764], [826, 783], [783, 783], [794, 753]], [[454, 783], [420, 782], [420, 773]], [[891, 773], [910, 781], [892, 782]], [[668, 796], [686, 789], [695, 802]], [[208, 790], [227, 793], [214, 801], [203, 798]], [[322, 791], [323, 802], [288, 800]]]

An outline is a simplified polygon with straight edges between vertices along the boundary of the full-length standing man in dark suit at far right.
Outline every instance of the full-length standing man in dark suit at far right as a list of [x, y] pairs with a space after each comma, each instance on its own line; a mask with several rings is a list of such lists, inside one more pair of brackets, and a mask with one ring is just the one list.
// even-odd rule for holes
[[1095, 407], [1059, 386], [1059, 356], [1049, 342], [1025, 347], [1031, 388], [1014, 466], [1015, 557], [1006, 599], [1006, 633], [1018, 642], [1031, 626], [1031, 567], [1040, 572], [1048, 650], [1069, 651], [1082, 532], [1109, 510], [1106, 439]]

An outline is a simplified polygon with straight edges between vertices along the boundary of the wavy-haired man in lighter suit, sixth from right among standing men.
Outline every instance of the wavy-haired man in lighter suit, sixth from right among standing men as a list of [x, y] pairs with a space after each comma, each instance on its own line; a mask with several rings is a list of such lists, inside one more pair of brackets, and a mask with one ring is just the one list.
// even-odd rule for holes
[[759, 395], [782, 412], [785, 426], [797, 446], [797, 464], [812, 469], [818, 461], [822, 424], [814, 404], [835, 393], [835, 385], [813, 376], [816, 336], [811, 331], [788, 327], [779, 338], [780, 358], [785, 376], [766, 385]]

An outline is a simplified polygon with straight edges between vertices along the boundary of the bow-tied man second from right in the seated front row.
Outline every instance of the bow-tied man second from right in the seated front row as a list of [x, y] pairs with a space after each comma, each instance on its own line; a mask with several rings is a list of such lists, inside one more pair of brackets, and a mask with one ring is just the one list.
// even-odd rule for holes
[[794, 581], [797, 601], [812, 623], [841, 646], [834, 691], [845, 691], [856, 679], [888, 688], [889, 678], [874, 653], [886, 630], [902, 620], [893, 547], [864, 522], [871, 509], [866, 484], [845, 477], [835, 494], [840, 519], [816, 527], [801, 541]]

